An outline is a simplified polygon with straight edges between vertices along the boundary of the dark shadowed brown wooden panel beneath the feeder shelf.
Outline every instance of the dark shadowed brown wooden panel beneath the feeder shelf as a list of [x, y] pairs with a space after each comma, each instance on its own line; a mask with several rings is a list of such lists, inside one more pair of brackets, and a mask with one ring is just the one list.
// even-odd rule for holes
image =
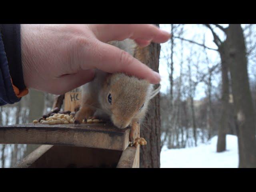
[[122, 151], [54, 145], [28, 168], [116, 168]]

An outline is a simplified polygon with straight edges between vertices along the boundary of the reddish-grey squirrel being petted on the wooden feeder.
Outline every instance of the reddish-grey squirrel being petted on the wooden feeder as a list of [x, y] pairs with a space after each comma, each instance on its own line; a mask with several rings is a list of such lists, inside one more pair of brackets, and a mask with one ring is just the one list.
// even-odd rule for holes
[[[136, 49], [133, 40], [112, 41], [108, 44], [132, 56], [140, 55], [136, 53], [140, 49]], [[85, 118], [98, 118], [111, 120], [120, 129], [131, 126], [129, 140], [133, 143], [134, 132], [146, 116], [149, 101], [160, 92], [161, 86], [154, 90], [147, 80], [124, 73], [110, 74], [96, 70], [94, 79], [81, 88], [82, 101], [74, 123], [80, 124]]]

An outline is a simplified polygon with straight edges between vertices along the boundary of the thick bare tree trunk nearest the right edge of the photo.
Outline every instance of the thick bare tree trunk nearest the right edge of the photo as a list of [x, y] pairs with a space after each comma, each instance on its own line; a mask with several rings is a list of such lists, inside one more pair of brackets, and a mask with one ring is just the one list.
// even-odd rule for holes
[[246, 46], [240, 24], [230, 24], [226, 41], [229, 46], [230, 76], [238, 123], [240, 168], [256, 168], [256, 127], [248, 81]]

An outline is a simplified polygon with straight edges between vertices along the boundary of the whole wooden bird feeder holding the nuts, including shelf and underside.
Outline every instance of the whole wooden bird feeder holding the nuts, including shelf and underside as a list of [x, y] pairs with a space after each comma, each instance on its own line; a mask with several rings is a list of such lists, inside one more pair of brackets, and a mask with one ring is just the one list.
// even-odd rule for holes
[[[71, 94], [77, 95], [76, 100], [70, 100]], [[60, 108], [65, 98], [65, 110], [73, 111], [80, 96], [56, 96], [53, 108]], [[0, 144], [41, 145], [16, 168], [139, 168], [140, 145], [129, 146], [129, 134], [130, 128], [118, 129], [107, 123], [30, 123], [0, 127]]]

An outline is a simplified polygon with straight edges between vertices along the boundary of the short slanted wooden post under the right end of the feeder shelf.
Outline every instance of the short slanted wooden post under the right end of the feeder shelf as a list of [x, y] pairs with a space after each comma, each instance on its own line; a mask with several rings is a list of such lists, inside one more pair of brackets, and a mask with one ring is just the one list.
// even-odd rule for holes
[[128, 147], [123, 151], [116, 168], [139, 168], [140, 145]]

